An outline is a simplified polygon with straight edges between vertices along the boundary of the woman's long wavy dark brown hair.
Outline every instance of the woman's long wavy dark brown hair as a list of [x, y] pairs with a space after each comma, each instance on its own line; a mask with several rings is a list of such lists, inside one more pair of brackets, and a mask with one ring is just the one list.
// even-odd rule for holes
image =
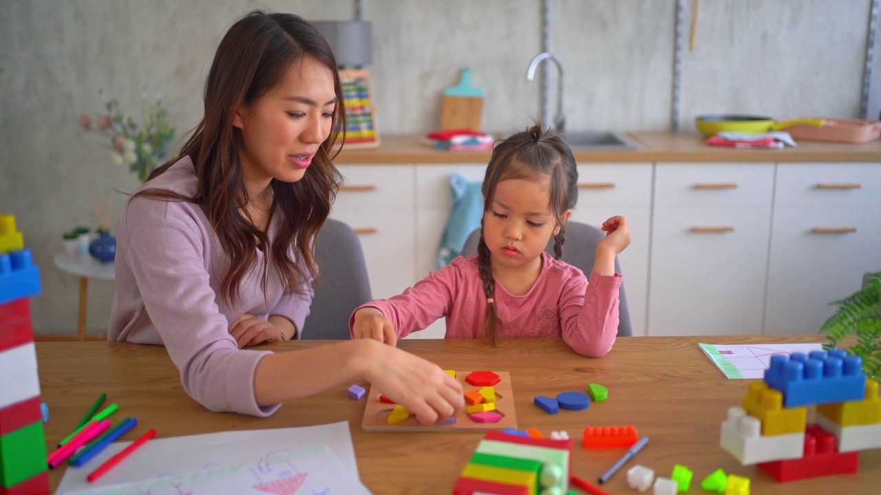
[[[233, 116], [242, 104], [254, 105], [265, 92], [280, 84], [286, 71], [305, 56], [323, 63], [333, 74], [337, 107], [330, 137], [319, 147], [303, 178], [296, 182], [270, 182], [272, 214], [280, 213], [282, 222], [270, 242], [245, 209], [248, 191], [239, 157], [241, 129], [233, 127]], [[220, 292], [227, 301], [239, 298], [241, 279], [255, 265], [258, 241], [271, 247], [272, 264], [285, 290], [298, 290], [307, 276], [318, 275], [313, 240], [328, 218], [342, 181], [331, 159], [339, 151], [337, 144], [344, 136], [343, 90], [337, 61], [327, 41], [315, 27], [294, 14], [249, 12], [220, 41], [205, 81], [204, 108], [202, 122], [193, 130], [180, 155], [150, 174], [150, 179], [154, 179], [178, 159], [189, 156], [196, 166], [196, 195], [181, 196], [170, 190], [148, 188], [132, 197], [191, 201], [204, 208], [230, 258], [229, 270], [220, 284]], [[291, 247], [294, 259], [289, 255]], [[264, 292], [267, 270], [268, 264], [264, 264]]]

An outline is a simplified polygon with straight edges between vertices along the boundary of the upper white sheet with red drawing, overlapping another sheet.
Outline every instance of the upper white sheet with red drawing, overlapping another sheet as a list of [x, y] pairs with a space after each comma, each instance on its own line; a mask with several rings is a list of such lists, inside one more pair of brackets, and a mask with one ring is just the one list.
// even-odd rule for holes
[[104, 488], [74, 491], [70, 495], [218, 495], [303, 493], [329, 495], [351, 493], [369, 495], [352, 471], [327, 446], [308, 447], [292, 452], [277, 450], [226, 466], [210, 466], [177, 476], [115, 484]]

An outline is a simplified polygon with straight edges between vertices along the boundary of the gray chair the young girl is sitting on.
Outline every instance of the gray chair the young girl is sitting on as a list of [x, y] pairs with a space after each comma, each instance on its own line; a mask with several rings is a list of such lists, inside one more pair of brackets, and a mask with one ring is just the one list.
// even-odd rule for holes
[[[566, 242], [563, 244], [562, 260], [572, 266], [583, 271], [586, 276], [590, 275], [590, 270], [594, 268], [594, 258], [596, 257], [596, 243], [603, 240], [605, 233], [600, 229], [569, 220], [566, 222]], [[465, 245], [462, 247], [462, 255], [470, 256], [478, 252], [478, 240], [480, 240], [480, 229], [470, 233]], [[553, 255], [553, 238], [544, 249]], [[615, 271], [623, 274], [618, 264], [618, 258], [615, 259]], [[633, 336], [633, 327], [630, 322], [630, 311], [627, 309], [627, 298], [624, 295], [624, 284], [618, 292], [618, 336]]]

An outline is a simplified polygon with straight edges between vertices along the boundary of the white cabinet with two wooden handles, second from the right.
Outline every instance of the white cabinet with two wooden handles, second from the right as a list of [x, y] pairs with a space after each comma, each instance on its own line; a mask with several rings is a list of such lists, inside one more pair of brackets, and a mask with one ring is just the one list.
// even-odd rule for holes
[[774, 164], [657, 164], [648, 335], [762, 329]]

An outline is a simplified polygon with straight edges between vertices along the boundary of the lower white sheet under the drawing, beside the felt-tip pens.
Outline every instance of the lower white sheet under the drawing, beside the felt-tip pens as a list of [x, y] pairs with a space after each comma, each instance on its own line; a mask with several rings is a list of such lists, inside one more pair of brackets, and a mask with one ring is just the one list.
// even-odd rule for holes
[[[138, 425], [140, 426], [140, 425]], [[150, 425], [144, 425], [149, 428]], [[136, 432], [137, 433], [134, 433]], [[130, 435], [137, 438], [146, 432], [136, 428]], [[161, 434], [161, 432], [159, 432]], [[156, 477], [199, 471], [206, 466], [228, 466], [239, 462], [253, 462], [275, 451], [296, 452], [307, 447], [327, 446], [343, 465], [358, 478], [358, 465], [352, 447], [349, 423], [342, 421], [329, 425], [240, 432], [205, 433], [167, 439], [151, 439], [137, 448], [126, 459], [110, 469], [95, 483], [85, 477], [114, 454], [130, 445], [115, 442], [86, 462], [81, 468], [68, 466], [56, 495], [87, 488], [126, 484]]]

